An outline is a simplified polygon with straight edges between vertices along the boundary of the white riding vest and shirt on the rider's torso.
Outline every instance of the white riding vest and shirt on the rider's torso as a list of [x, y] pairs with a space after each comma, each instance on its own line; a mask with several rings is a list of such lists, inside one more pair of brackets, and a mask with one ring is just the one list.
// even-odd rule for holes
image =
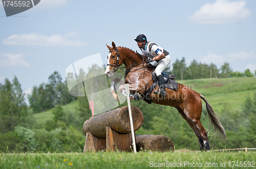
[[141, 48], [141, 51], [143, 55], [146, 55], [148, 58], [151, 59], [156, 57], [157, 55], [161, 55], [162, 53], [164, 53], [165, 56], [169, 54], [169, 52], [153, 42], [147, 42], [145, 44], [145, 48]]

